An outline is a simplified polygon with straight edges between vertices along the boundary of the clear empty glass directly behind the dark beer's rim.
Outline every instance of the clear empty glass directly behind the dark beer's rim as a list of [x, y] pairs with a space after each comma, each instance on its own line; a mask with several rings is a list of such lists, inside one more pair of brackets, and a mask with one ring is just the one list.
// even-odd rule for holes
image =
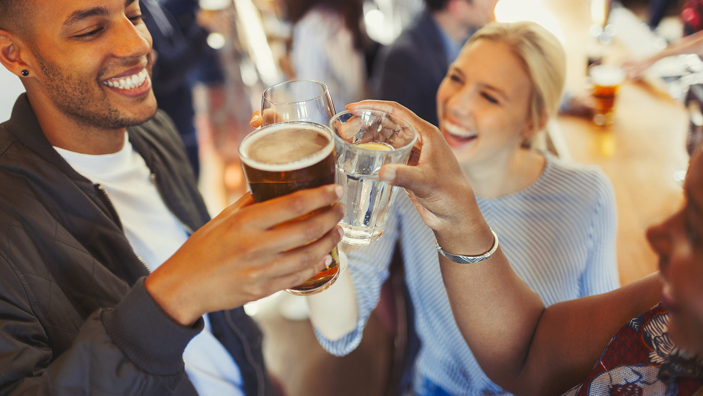
[[327, 125], [335, 115], [327, 86], [314, 79], [292, 79], [266, 88], [262, 95], [262, 126], [284, 121]]

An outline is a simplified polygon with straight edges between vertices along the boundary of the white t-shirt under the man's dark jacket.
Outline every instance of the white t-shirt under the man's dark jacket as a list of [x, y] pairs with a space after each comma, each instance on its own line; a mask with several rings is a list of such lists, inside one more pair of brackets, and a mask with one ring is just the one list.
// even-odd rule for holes
[[[120, 216], [127, 240], [150, 271], [188, 239], [183, 226], [163, 202], [146, 162], [132, 149], [127, 132], [117, 153], [89, 155], [56, 148], [73, 169], [105, 189]], [[186, 373], [200, 395], [243, 395], [242, 376], [224, 346], [205, 328], [183, 352]]]

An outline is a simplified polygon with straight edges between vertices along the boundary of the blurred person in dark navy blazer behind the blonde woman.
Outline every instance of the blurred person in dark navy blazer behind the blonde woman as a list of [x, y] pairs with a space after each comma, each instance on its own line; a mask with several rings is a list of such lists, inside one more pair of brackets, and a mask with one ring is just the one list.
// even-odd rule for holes
[[396, 101], [437, 125], [435, 96], [449, 64], [476, 30], [495, 19], [498, 0], [425, 0], [425, 11], [375, 60], [373, 96]]

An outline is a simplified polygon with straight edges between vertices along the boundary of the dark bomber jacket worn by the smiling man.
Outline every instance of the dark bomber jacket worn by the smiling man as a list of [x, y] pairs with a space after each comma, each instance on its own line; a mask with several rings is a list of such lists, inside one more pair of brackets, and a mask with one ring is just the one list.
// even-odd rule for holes
[[[127, 129], [181, 222], [208, 221], [172, 122]], [[169, 319], [100, 186], [61, 158], [26, 94], [0, 124], [0, 395], [195, 395], [183, 350], [202, 329]], [[240, 307], [210, 314], [247, 395], [270, 392], [261, 333]]]

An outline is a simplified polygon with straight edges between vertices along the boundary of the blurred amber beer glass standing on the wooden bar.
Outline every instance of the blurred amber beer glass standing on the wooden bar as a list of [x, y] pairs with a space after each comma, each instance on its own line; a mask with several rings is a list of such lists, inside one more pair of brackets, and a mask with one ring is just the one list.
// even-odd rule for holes
[[613, 65], [595, 65], [588, 70], [593, 84], [595, 109], [593, 123], [596, 125], [612, 124], [615, 120], [615, 96], [625, 80], [625, 71]]

